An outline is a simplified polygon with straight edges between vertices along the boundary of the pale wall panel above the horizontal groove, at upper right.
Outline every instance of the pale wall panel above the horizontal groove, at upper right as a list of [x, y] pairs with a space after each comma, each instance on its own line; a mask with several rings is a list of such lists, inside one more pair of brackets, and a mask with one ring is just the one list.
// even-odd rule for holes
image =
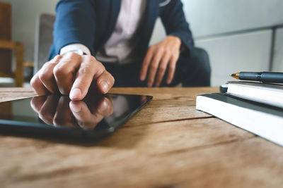
[[183, 0], [195, 37], [283, 23], [282, 0]]

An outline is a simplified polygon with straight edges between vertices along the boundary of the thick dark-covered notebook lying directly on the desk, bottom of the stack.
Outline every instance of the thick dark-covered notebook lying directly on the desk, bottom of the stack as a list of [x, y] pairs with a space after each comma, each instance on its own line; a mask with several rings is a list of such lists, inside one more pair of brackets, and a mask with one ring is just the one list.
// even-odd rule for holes
[[202, 94], [196, 109], [283, 146], [283, 108], [229, 94]]

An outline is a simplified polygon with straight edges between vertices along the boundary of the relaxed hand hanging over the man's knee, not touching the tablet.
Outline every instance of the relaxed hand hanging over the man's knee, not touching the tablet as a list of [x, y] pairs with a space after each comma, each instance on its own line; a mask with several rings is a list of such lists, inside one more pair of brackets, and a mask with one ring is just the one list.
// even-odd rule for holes
[[[166, 83], [170, 84], [173, 80], [176, 63], [180, 56], [181, 40], [178, 37], [168, 36], [163, 42], [151, 46], [146, 53], [142, 63], [140, 80], [146, 79], [147, 72], [147, 86], [152, 87], [155, 79], [155, 86], [159, 87], [166, 68], [168, 67], [168, 76]], [[158, 71], [157, 71], [158, 70]], [[156, 76], [156, 72], [157, 76]]]

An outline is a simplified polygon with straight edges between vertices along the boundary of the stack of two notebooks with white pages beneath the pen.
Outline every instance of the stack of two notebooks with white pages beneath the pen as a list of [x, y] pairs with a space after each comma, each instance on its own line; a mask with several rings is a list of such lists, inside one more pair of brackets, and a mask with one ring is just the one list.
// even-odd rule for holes
[[283, 84], [228, 82], [226, 93], [197, 96], [196, 108], [283, 146]]

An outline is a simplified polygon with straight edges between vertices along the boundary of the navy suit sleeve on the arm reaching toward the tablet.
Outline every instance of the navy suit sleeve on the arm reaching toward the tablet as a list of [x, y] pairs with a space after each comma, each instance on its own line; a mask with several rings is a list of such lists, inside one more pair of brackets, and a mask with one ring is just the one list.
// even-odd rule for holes
[[56, 7], [54, 23], [54, 51], [68, 44], [79, 43], [94, 54], [94, 34], [96, 31], [95, 1], [60, 0]]

